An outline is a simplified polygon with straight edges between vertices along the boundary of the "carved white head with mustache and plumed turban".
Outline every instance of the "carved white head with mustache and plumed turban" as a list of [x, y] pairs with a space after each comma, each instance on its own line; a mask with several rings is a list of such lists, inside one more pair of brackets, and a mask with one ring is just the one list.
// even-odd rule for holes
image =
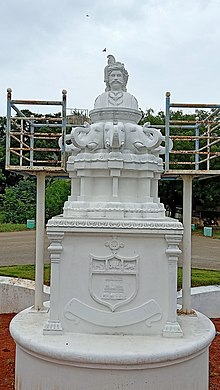
[[104, 70], [104, 82], [106, 83], [105, 91], [124, 91], [126, 92], [126, 85], [128, 82], [128, 72], [115, 57], [108, 55], [108, 65]]

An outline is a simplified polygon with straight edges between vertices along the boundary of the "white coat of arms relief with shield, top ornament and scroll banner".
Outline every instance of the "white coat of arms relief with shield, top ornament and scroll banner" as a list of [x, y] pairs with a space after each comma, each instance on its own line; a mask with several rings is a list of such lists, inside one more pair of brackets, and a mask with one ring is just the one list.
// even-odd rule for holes
[[[78, 323], [85, 320], [98, 326], [122, 327], [145, 321], [147, 326], [162, 318], [161, 308], [154, 299], [123, 310], [139, 289], [139, 255], [123, 257], [118, 254], [125, 245], [113, 237], [105, 243], [111, 254], [90, 254], [88, 290], [91, 298], [106, 309], [90, 306], [77, 298], [71, 299], [64, 308], [64, 316]], [[120, 308], [120, 309], [119, 309]], [[78, 319], [78, 320], [77, 320]]]

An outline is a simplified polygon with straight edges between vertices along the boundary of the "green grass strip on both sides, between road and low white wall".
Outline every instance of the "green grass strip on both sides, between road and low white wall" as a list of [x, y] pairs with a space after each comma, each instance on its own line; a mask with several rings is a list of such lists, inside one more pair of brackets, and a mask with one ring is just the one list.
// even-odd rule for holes
[[[1, 266], [1, 276], [11, 276], [22, 279], [35, 279], [34, 265]], [[178, 289], [181, 288], [182, 268], [178, 268]], [[44, 266], [44, 283], [50, 284], [50, 264]], [[192, 269], [192, 287], [220, 285], [220, 271]]]

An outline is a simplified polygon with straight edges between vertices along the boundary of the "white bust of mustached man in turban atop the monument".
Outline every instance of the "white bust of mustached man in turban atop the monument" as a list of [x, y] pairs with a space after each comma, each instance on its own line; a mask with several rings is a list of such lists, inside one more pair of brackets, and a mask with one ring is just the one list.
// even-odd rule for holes
[[94, 109], [104, 107], [124, 107], [138, 110], [137, 99], [127, 92], [128, 72], [113, 55], [108, 55], [108, 64], [104, 69], [105, 92], [99, 95]]

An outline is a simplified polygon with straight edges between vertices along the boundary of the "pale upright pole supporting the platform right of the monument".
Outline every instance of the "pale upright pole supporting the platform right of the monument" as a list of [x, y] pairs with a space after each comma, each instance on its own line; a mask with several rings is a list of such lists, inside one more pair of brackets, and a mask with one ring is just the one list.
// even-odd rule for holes
[[192, 175], [183, 178], [183, 277], [182, 277], [182, 311], [192, 312], [191, 308], [191, 255], [192, 255]]

